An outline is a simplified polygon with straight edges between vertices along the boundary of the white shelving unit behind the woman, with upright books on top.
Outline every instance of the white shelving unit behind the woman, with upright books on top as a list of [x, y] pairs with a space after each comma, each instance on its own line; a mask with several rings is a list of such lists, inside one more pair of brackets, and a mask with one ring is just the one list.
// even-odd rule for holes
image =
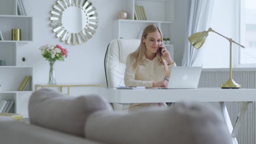
[[[171, 24], [174, 21], [174, 0], [124, 0], [124, 11], [128, 12], [128, 19], [113, 21], [113, 39], [135, 38], [149, 24], [155, 24], [163, 32], [164, 38], [171, 37]], [[147, 21], [134, 20], [135, 5], [141, 5], [145, 9]], [[165, 45], [173, 57], [174, 45]]]

